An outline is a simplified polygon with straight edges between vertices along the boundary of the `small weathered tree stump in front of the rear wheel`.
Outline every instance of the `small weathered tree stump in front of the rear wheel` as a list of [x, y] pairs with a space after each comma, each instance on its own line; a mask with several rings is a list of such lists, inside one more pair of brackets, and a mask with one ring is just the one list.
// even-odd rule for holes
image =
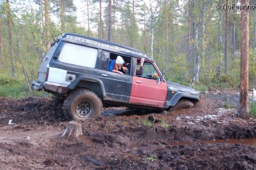
[[74, 132], [74, 136], [78, 139], [80, 135], [83, 135], [82, 126], [78, 122], [71, 121], [68, 123], [65, 131], [62, 133], [61, 137], [65, 136], [69, 131], [68, 137]]

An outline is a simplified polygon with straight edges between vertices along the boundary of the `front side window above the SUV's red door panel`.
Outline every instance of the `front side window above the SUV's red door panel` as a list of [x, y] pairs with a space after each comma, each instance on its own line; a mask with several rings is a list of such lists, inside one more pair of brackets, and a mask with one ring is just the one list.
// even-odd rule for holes
[[[153, 63], [145, 61], [143, 65], [144, 65], [143, 74], [138, 77], [143, 77], [148, 79], [157, 79], [159, 77]], [[140, 62], [137, 62], [137, 70], [139, 69], [140, 69]]]

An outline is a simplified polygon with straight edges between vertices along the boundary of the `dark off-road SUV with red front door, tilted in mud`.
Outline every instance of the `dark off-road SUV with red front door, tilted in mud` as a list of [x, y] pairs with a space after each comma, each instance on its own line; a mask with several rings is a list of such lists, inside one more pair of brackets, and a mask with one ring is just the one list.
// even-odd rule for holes
[[[127, 74], [108, 71], [110, 61], [118, 55], [130, 64]], [[143, 74], [136, 76], [142, 58]], [[103, 104], [174, 110], [193, 107], [201, 99], [192, 88], [166, 82], [145, 53], [70, 33], [52, 43], [32, 86], [63, 99], [63, 112], [75, 120], [100, 116]]]

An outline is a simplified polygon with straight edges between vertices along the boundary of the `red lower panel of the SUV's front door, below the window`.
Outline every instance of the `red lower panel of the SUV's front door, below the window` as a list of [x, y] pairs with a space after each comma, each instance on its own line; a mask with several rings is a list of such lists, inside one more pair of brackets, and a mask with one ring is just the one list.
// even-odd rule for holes
[[166, 99], [167, 85], [157, 84], [155, 79], [133, 77], [129, 103], [163, 108]]

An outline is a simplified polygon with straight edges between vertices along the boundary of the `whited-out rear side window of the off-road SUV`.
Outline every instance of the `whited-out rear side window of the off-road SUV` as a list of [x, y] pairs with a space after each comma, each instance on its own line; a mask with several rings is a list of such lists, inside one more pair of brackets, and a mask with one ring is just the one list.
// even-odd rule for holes
[[59, 55], [59, 61], [94, 68], [98, 50], [77, 44], [65, 43]]

